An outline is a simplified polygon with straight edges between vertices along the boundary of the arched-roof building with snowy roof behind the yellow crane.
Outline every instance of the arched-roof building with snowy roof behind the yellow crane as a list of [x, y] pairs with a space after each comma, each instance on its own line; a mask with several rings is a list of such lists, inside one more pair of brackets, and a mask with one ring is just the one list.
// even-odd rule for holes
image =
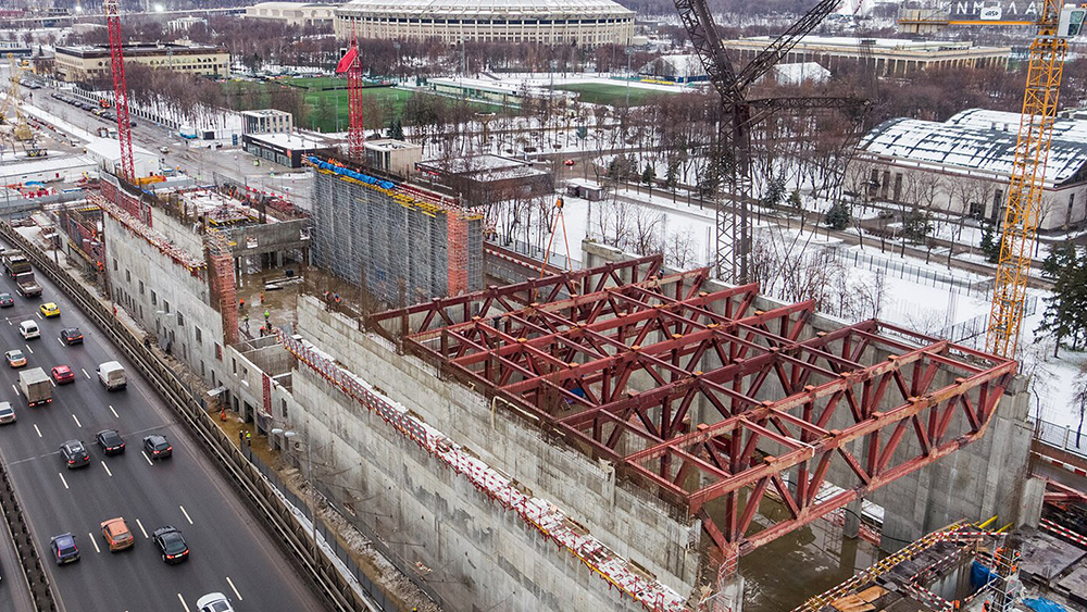
[[[1008, 199], [1019, 113], [971, 109], [945, 123], [895, 118], [858, 148], [866, 196], [997, 220]], [[1087, 221], [1087, 121], [1058, 118], [1046, 164], [1040, 229]]]

